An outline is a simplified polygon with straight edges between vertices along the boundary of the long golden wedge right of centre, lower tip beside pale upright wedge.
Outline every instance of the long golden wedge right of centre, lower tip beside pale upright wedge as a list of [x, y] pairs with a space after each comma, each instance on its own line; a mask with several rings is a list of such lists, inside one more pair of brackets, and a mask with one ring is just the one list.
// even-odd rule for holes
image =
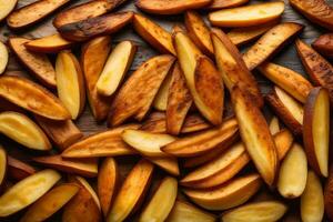
[[279, 159], [269, 125], [259, 108], [238, 85], [233, 88], [231, 97], [246, 150], [265, 183], [272, 186]]

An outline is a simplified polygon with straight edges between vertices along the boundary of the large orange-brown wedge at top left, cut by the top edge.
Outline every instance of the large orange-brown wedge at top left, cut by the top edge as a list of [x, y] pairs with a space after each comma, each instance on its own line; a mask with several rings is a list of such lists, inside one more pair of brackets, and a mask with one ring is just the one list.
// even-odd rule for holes
[[70, 0], [41, 0], [14, 10], [7, 18], [11, 29], [23, 29], [44, 19]]

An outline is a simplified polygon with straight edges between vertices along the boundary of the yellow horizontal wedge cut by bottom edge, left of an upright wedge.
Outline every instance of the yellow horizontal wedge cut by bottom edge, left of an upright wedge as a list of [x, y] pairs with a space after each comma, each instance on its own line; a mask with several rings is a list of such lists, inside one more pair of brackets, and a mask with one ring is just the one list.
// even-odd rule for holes
[[245, 221], [279, 221], [287, 206], [278, 201], [261, 201], [248, 203], [222, 214], [223, 222]]

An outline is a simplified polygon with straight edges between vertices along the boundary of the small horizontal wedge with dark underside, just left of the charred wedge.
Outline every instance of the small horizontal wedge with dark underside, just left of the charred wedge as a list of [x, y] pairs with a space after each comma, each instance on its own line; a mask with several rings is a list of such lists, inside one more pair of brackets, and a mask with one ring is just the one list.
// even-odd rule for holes
[[39, 53], [57, 53], [61, 50], [69, 49], [73, 42], [63, 39], [59, 33], [42, 37], [27, 42], [26, 48], [29, 51]]

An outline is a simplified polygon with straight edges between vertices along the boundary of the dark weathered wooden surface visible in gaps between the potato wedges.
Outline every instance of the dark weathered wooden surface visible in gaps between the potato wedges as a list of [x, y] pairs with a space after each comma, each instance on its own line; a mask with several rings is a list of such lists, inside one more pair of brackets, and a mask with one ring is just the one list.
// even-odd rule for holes
[[[36, 0], [19, 0], [18, 8], [26, 6], [28, 3], [31, 3], [33, 1], [36, 1]], [[325, 30], [321, 29], [319, 26], [312, 24], [307, 20], [305, 20], [301, 14], [295, 12], [289, 6], [286, 0], [284, 0], [284, 1], [286, 2], [286, 9], [285, 9], [285, 12], [283, 13], [282, 20], [283, 21], [293, 21], [293, 22], [299, 22], [299, 23], [304, 24], [305, 29], [302, 32], [302, 34], [300, 36], [301, 39], [303, 39], [307, 43], [312, 43], [314, 41], [314, 39], [316, 39], [320, 34], [325, 32]], [[78, 3], [82, 3], [82, 2], [87, 2], [87, 0], [72, 0], [69, 4], [63, 7], [63, 9], [69, 8], [74, 4], [78, 4]], [[120, 11], [127, 11], [127, 10], [138, 11], [135, 9], [133, 2], [134, 2], [133, 0], [128, 0], [128, 2], [124, 6], [122, 6], [119, 10]], [[255, 3], [255, 2], [260, 2], [260, 1], [251, 0], [251, 3]], [[333, 6], [333, 0], [329, 0], [329, 2], [331, 2]], [[60, 9], [60, 10], [62, 10], [62, 9]], [[141, 12], [141, 13], [143, 13], [143, 12]], [[206, 12], [203, 11], [202, 14], [205, 16]], [[182, 16], [159, 16], [159, 17], [149, 16], [149, 14], [147, 14], [147, 16], [150, 17], [151, 19], [153, 19], [154, 21], [157, 21], [159, 24], [161, 24], [162, 27], [164, 27], [168, 30], [170, 30], [174, 23], [183, 22]], [[1, 39], [1, 41], [6, 42], [7, 38], [9, 36], [23, 36], [23, 37], [28, 37], [28, 38], [40, 38], [40, 37], [52, 34], [56, 32], [56, 29], [52, 27], [52, 19], [53, 19], [53, 16], [50, 16], [47, 19], [44, 19], [42, 22], [39, 22], [38, 24], [36, 24], [27, 30], [20, 31], [20, 32], [10, 31], [6, 27], [6, 23], [2, 22], [1, 28], [0, 28], [0, 39]], [[130, 26], [127, 27], [123, 31], [117, 33], [113, 37], [112, 42], [113, 42], [113, 44], [115, 44], [117, 42], [122, 41], [122, 40], [132, 40], [139, 46], [139, 50], [138, 50], [138, 53], [135, 54], [135, 59], [132, 64], [131, 71], [135, 70], [135, 68], [138, 68], [138, 65], [140, 65], [148, 58], [158, 54], [157, 51], [152, 50], [138, 34], [134, 33], [134, 31], [131, 29]], [[248, 44], [248, 47], [249, 46], [251, 46], [251, 43]], [[246, 48], [246, 46], [244, 48], [242, 48], [242, 50], [244, 50], [245, 48]], [[75, 48], [74, 52], [79, 57], [80, 49]], [[54, 62], [53, 56], [51, 56], [51, 59]], [[306, 75], [302, 68], [300, 59], [296, 56], [294, 43], [286, 46], [275, 58], [273, 58], [273, 61]], [[23, 70], [23, 68], [18, 63], [17, 59], [12, 56], [12, 53], [11, 53], [10, 62], [9, 62], [7, 70], [8, 71]], [[260, 77], [260, 74], [258, 72], [254, 71], [253, 73], [256, 77], [258, 81], [260, 82], [262, 92], [263, 93], [268, 92], [270, 90], [271, 83], [268, 80], [265, 80], [264, 78]], [[265, 110], [265, 113], [269, 114], [269, 112], [270, 112], [269, 110]], [[83, 114], [80, 117], [79, 120], [75, 121], [75, 123], [83, 131], [83, 133], [85, 135], [107, 129], [104, 123], [103, 124], [95, 123], [93, 117], [91, 115], [88, 103], [85, 105]], [[7, 148], [7, 150], [9, 150], [10, 153], [16, 153], [16, 155], [20, 155], [21, 150], [23, 150], [24, 151], [24, 152], [22, 152], [23, 157], [27, 153], [36, 154], [36, 153], [32, 153], [31, 151], [28, 151], [27, 149], [24, 149], [22, 147], [19, 147], [18, 144], [9, 141], [4, 137], [0, 137], [0, 139], [1, 139], [1, 143]], [[18, 150], [20, 150], [20, 151], [17, 152]], [[122, 174], [125, 174], [134, 161], [131, 158], [130, 159], [121, 158], [119, 162], [121, 163]], [[56, 220], [56, 221], [58, 221], [58, 220]], [[287, 220], [287, 221], [297, 221], [297, 220]]]

